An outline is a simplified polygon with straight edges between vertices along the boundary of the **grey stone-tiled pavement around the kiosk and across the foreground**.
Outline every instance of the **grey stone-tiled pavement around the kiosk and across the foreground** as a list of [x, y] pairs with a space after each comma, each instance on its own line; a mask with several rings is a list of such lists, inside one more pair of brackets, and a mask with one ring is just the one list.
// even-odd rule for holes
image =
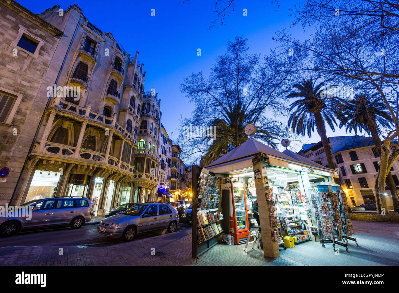
[[[280, 258], [266, 259], [257, 250], [243, 254], [244, 245], [216, 245], [191, 258], [191, 230], [142, 238], [113, 246], [5, 247], [0, 249], [0, 265], [398, 265], [399, 224], [353, 221], [355, 242], [349, 253], [343, 247], [334, 253], [331, 244], [304, 242], [294, 248], [280, 249]], [[152, 256], [151, 250], [163, 252]]]

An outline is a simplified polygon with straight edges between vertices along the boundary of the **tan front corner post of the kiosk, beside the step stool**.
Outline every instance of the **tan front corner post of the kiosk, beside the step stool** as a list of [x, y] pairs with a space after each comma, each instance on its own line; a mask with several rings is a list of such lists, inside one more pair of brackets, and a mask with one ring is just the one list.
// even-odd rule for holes
[[253, 157], [252, 163], [262, 231], [263, 255], [265, 258], [278, 258], [280, 257], [279, 242], [272, 241], [270, 212], [265, 192], [269, 189], [266, 173], [266, 168], [270, 166], [269, 157], [264, 153], [258, 153]]

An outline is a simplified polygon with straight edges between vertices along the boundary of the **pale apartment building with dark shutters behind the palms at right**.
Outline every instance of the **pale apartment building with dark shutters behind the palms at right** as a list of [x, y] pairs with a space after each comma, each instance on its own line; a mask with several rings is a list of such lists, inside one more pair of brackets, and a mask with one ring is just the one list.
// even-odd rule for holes
[[[379, 168], [379, 157], [374, 148], [372, 138], [363, 136], [337, 136], [328, 138], [330, 147], [338, 167], [340, 178], [347, 191], [350, 206], [375, 202], [375, 178]], [[394, 141], [393, 144], [397, 144]], [[321, 142], [302, 146], [300, 155], [321, 165], [327, 166], [327, 159]], [[399, 189], [399, 163], [395, 161], [391, 169], [393, 180]], [[388, 208], [393, 208], [389, 188], [387, 191]]]

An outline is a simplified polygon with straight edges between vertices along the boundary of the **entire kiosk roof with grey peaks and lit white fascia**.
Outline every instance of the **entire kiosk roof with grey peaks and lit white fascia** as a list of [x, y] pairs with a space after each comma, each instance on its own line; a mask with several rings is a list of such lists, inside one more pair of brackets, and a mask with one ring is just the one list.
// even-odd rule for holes
[[280, 152], [253, 138], [250, 138], [229, 153], [205, 166], [205, 169], [213, 173], [228, 174], [239, 169], [252, 168], [252, 158], [257, 153], [265, 153], [268, 155], [271, 165], [338, 177], [332, 169], [326, 168], [288, 149]]

